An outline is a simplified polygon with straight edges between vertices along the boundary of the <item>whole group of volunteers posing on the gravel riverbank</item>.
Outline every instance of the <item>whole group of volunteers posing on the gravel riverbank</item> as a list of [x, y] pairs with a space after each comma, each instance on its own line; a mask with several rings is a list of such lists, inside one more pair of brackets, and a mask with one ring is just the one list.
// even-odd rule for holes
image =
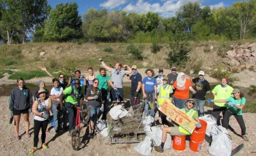
[[[42, 147], [47, 149], [46, 132], [49, 116], [53, 115], [53, 128], [56, 134], [60, 129], [65, 129], [65, 120], [68, 119], [69, 135], [75, 131], [76, 107], [80, 106], [82, 101], [88, 101], [90, 112], [89, 121], [89, 137], [92, 138], [95, 133], [96, 121], [102, 115], [102, 119], [106, 118], [109, 111], [109, 99], [112, 99], [112, 105], [117, 106], [118, 102], [125, 107], [123, 94], [123, 78], [127, 75], [127, 79], [131, 81], [130, 104], [139, 104], [140, 99], [147, 101], [144, 106], [144, 116], [155, 116], [157, 108], [160, 107], [164, 100], [170, 100], [177, 108], [180, 108], [187, 115], [197, 121], [196, 127], [200, 128], [199, 116], [204, 116], [205, 95], [210, 94], [209, 82], [204, 79], [204, 71], [199, 71], [198, 77], [192, 78], [193, 70], [191, 70], [189, 79], [185, 78], [185, 74], [176, 73], [176, 68], [171, 68], [171, 73], [163, 75], [163, 69], [158, 69], [158, 75], [155, 76], [154, 70], [147, 69], [147, 77], [142, 79], [142, 75], [138, 72], [137, 66], [123, 65], [116, 63], [114, 68], [110, 68], [105, 64], [102, 58], [99, 59], [103, 68], [100, 68], [100, 74], [94, 75], [93, 69], [88, 68], [88, 77], [81, 77], [80, 70], [76, 70], [75, 77], [69, 78], [65, 83], [64, 74], [59, 74], [59, 78], [55, 78], [42, 67], [41, 70], [52, 77], [53, 87], [49, 92], [46, 90], [43, 81], [39, 81], [38, 90], [35, 91], [34, 98], [30, 90], [26, 87], [24, 79], [17, 80], [17, 87], [11, 90], [9, 108], [11, 116], [14, 116], [14, 132], [15, 139], [19, 140], [19, 121], [21, 114], [23, 115], [26, 137], [30, 137], [28, 132], [30, 127], [29, 114], [34, 113], [34, 146], [29, 153], [34, 153], [38, 149], [39, 132], [42, 131]], [[121, 68], [127, 70], [121, 70]], [[108, 70], [111, 75], [106, 74]], [[195, 83], [192, 87], [191, 82]], [[242, 118], [242, 109], [245, 106], [245, 98], [240, 90], [233, 89], [228, 84], [227, 78], [222, 78], [221, 85], [217, 85], [212, 90], [214, 100], [208, 99], [207, 102], [214, 102], [212, 115], [218, 119], [220, 112], [224, 116], [223, 127], [228, 128], [229, 117], [234, 115], [242, 129], [242, 137], [248, 141], [245, 136], [245, 123]], [[189, 91], [193, 93], [189, 99]], [[111, 96], [111, 97], [110, 97]], [[33, 100], [34, 99], [34, 100]], [[138, 99], [138, 100], [137, 100]], [[152, 107], [156, 106], [156, 107]], [[195, 108], [195, 110], [193, 109]], [[60, 114], [63, 120], [60, 121]], [[67, 116], [67, 119], [65, 119]], [[169, 125], [171, 122], [166, 115], [159, 111], [162, 124]], [[61, 125], [61, 126], [60, 126]], [[172, 135], [190, 134], [182, 127], [163, 128], [162, 144], [155, 147], [157, 151], [163, 152], [164, 142], [167, 133]]]

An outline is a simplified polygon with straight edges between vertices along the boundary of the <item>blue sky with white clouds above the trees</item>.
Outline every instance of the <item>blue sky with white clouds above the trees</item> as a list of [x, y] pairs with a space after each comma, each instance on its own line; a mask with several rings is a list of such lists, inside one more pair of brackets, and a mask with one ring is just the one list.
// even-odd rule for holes
[[[108, 9], [136, 12], [137, 14], [147, 13], [149, 11], [158, 12], [160, 16], [168, 18], [175, 16], [175, 12], [181, 5], [188, 2], [199, 2], [200, 5], [213, 7], [227, 7], [232, 6], [237, 0], [48, 0], [48, 4], [55, 8], [59, 3], [76, 2], [79, 6], [79, 14], [86, 14], [90, 8], [94, 9]], [[241, 0], [243, 1], [243, 0]]]

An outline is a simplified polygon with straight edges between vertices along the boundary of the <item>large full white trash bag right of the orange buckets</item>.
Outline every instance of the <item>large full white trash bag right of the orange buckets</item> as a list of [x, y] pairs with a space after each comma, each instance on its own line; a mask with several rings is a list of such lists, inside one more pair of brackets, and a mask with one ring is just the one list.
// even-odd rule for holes
[[228, 130], [221, 125], [212, 127], [212, 142], [209, 146], [209, 154], [226, 156], [232, 152], [232, 138], [228, 134]]

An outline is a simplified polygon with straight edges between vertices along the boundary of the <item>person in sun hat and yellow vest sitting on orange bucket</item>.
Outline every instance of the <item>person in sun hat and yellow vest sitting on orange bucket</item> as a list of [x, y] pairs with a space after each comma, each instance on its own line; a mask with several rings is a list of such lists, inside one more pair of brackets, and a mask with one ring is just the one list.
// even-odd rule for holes
[[[192, 117], [192, 119], [196, 120], [196, 128], [201, 128], [201, 122], [199, 120], [198, 117], [198, 113], [197, 111], [195, 111], [193, 108], [196, 106], [196, 102], [193, 99], [188, 99], [185, 100], [184, 103], [184, 107], [182, 108], [181, 111], [183, 111], [184, 113], [186, 113], [187, 115], [189, 115], [190, 117]], [[171, 122], [171, 120], [169, 119], [168, 121]], [[167, 133], [170, 133], [171, 136], [186, 136], [186, 135], [191, 135], [191, 133], [189, 133], [187, 130], [185, 130], [183, 127], [179, 126], [179, 127], [164, 127], [163, 128], [163, 133], [162, 133], [162, 142], [160, 146], [155, 146], [155, 150], [163, 153], [163, 147], [164, 147], [164, 143], [166, 142], [166, 138], [167, 138]]]

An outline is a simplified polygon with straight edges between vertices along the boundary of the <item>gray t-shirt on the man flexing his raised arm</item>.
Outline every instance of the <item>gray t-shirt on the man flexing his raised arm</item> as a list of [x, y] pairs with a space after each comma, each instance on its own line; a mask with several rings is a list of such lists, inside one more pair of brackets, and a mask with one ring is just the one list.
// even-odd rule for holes
[[123, 77], [125, 77], [125, 70], [111, 69], [113, 85], [116, 88], [123, 88]]

